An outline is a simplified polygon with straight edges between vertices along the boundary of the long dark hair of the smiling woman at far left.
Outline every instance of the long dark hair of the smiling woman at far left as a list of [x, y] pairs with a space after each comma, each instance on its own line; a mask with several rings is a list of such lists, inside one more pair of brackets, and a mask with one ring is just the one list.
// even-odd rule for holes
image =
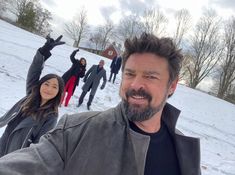
[[[59, 85], [59, 91], [57, 95], [47, 101], [44, 105], [41, 105], [41, 95], [40, 95], [40, 87], [42, 83], [45, 81], [56, 78]], [[31, 93], [26, 98], [22, 105], [22, 116], [31, 116], [36, 120], [40, 120], [41, 118], [46, 117], [50, 113], [58, 114], [58, 107], [60, 105], [60, 100], [62, 97], [62, 93], [64, 91], [64, 81], [63, 79], [56, 74], [47, 74], [42, 77], [39, 82], [32, 88]]]

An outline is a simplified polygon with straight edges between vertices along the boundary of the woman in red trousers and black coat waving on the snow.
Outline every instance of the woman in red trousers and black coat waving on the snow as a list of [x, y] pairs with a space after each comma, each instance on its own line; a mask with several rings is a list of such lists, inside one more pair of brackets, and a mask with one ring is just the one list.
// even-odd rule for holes
[[83, 57], [80, 58], [80, 60], [75, 59], [75, 55], [78, 51], [79, 49], [76, 49], [70, 55], [72, 66], [62, 76], [64, 83], [65, 83], [65, 88], [64, 88], [64, 94], [61, 100], [61, 104], [63, 103], [64, 98], [67, 94], [65, 98], [65, 106], [68, 106], [69, 100], [71, 96], [73, 95], [76, 89], [76, 86], [78, 86], [80, 78], [84, 77], [85, 72], [86, 72], [86, 59]]

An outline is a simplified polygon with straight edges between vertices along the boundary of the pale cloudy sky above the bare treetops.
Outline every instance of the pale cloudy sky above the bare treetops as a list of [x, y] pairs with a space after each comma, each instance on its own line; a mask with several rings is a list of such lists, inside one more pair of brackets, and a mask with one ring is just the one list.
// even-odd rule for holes
[[[87, 10], [88, 23], [101, 25], [105, 19], [117, 24], [123, 15], [142, 14], [145, 9], [159, 7], [168, 19], [182, 8], [188, 9], [193, 22], [205, 8], [213, 8], [218, 15], [228, 18], [235, 16], [235, 0], [40, 0], [41, 4], [53, 15], [52, 27], [62, 31], [64, 23], [74, 19], [84, 8]], [[57, 32], [58, 33], [58, 32]]]

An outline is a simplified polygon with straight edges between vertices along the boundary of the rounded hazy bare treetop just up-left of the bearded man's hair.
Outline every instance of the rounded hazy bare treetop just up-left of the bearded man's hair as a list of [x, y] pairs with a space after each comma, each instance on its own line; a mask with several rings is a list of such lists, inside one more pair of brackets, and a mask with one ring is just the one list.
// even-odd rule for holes
[[123, 16], [117, 27], [117, 39], [123, 43], [127, 38], [139, 36], [143, 31], [143, 24], [137, 15]]

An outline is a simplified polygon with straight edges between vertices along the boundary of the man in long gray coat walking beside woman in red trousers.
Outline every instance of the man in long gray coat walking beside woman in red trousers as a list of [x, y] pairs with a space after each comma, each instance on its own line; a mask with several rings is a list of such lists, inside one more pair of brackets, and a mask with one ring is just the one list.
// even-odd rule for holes
[[82, 94], [79, 97], [78, 107], [83, 103], [83, 99], [87, 92], [91, 90], [89, 100], [87, 102], [87, 109], [90, 110], [91, 102], [95, 96], [96, 90], [100, 84], [100, 79], [103, 78], [103, 84], [100, 89], [104, 89], [106, 84], [106, 71], [104, 69], [104, 60], [100, 60], [98, 65], [93, 65], [86, 73], [83, 81], [85, 84], [82, 87]]

